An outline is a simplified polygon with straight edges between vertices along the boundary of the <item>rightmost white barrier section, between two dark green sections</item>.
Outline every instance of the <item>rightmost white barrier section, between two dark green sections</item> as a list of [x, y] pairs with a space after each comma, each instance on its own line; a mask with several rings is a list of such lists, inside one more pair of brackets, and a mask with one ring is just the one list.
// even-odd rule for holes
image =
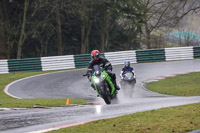
[[166, 61], [193, 59], [193, 47], [165, 48]]

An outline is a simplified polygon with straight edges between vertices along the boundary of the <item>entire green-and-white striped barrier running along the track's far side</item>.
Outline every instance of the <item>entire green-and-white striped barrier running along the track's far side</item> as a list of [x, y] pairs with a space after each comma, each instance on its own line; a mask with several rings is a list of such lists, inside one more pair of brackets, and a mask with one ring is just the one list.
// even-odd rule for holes
[[[123, 64], [125, 60], [131, 63], [145, 63], [197, 59], [200, 58], [200, 46], [106, 52], [101, 56], [107, 58], [112, 65]], [[0, 74], [85, 68], [90, 60], [90, 54], [0, 60]]]

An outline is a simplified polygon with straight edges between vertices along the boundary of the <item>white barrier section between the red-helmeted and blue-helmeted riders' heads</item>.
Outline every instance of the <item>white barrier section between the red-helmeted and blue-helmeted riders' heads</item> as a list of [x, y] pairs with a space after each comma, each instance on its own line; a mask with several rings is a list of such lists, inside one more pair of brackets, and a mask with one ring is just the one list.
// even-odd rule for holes
[[105, 53], [105, 58], [108, 59], [112, 65], [123, 64], [124, 61], [129, 60], [131, 63], [136, 63], [135, 50], [108, 52]]

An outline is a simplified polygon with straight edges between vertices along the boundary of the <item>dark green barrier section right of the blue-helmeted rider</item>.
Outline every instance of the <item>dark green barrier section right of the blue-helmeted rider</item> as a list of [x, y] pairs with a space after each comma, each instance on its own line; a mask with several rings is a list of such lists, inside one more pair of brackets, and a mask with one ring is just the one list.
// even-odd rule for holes
[[136, 50], [137, 63], [165, 61], [165, 49]]

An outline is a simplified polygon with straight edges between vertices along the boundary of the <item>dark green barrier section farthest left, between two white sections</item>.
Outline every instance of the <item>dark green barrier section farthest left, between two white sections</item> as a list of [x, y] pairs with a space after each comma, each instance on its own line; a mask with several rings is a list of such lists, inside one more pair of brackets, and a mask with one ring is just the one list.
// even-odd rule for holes
[[9, 72], [42, 71], [40, 58], [9, 59]]

